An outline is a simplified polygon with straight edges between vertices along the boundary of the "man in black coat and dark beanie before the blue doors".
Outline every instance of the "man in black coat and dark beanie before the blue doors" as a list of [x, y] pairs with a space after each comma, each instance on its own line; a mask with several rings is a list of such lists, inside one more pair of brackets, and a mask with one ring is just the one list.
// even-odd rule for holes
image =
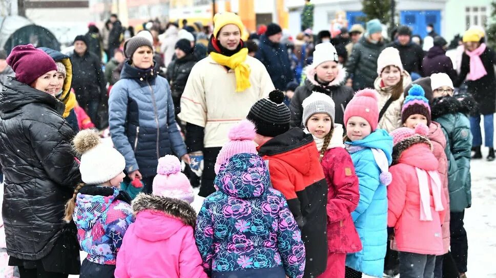
[[424, 51], [420, 45], [411, 41], [411, 30], [408, 26], [400, 26], [398, 28], [397, 39], [386, 47], [394, 47], [400, 52], [401, 63], [403, 69], [410, 75], [416, 73], [422, 74], [422, 60], [424, 59]]

